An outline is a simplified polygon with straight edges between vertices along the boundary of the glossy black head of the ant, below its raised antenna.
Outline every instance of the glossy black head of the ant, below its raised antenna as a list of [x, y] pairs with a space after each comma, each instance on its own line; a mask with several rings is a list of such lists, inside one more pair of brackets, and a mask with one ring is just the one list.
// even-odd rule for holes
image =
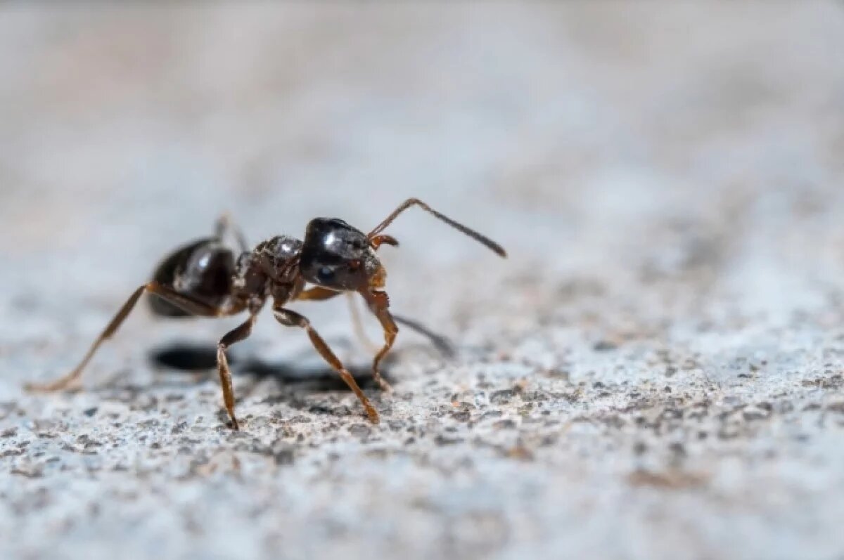
[[382, 275], [369, 238], [338, 218], [308, 223], [299, 269], [307, 282], [336, 290], [357, 290]]

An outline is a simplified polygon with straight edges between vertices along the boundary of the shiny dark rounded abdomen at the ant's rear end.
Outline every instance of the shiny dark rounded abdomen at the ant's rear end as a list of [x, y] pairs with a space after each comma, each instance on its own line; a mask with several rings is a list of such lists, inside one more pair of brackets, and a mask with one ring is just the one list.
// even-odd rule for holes
[[[235, 255], [232, 250], [219, 239], [210, 237], [175, 250], [161, 261], [153, 279], [177, 293], [216, 307], [229, 297], [234, 272]], [[191, 316], [187, 311], [155, 295], [149, 298], [149, 306], [156, 315]]]

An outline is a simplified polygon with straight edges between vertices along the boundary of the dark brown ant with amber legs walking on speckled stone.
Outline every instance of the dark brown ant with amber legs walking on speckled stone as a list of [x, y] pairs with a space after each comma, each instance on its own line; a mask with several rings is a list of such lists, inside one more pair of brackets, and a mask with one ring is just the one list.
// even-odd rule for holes
[[[384, 332], [384, 344], [372, 362], [372, 376], [382, 390], [390, 390], [387, 381], [381, 377], [379, 365], [396, 340], [398, 326], [396, 318], [390, 313], [390, 299], [384, 291], [387, 271], [378, 261], [376, 250], [381, 245], [398, 246], [398, 240], [381, 232], [399, 214], [413, 206], [433, 214], [499, 256], [506, 257], [506, 251], [495, 241], [455, 222], [417, 198], [403, 202], [369, 234], [339, 218], [314, 218], [307, 225], [304, 241], [277, 235], [248, 250], [243, 235], [235, 231], [241, 249], [236, 259], [234, 251], [224, 241], [230, 223], [221, 218], [213, 237], [185, 245], [160, 263], [153, 280], [144, 283], [129, 296], [73, 371], [44, 385], [27, 385], [27, 389], [62, 390], [78, 380], [97, 349], [117, 331], [143, 293], [155, 296], [150, 299], [150, 305], [156, 315], [227, 317], [247, 311], [249, 317], [222, 337], [217, 345], [217, 369], [225, 410], [232, 427], [239, 429], [225, 351], [235, 342], [249, 337], [258, 313], [272, 298], [275, 319], [284, 326], [297, 326], [306, 331], [317, 352], [354, 391], [371, 423], [378, 423], [375, 407], [360, 390], [349, 370], [311, 326], [311, 321], [284, 305], [299, 300], [324, 301], [339, 293], [360, 293]], [[311, 287], [306, 288], [306, 285]]]

